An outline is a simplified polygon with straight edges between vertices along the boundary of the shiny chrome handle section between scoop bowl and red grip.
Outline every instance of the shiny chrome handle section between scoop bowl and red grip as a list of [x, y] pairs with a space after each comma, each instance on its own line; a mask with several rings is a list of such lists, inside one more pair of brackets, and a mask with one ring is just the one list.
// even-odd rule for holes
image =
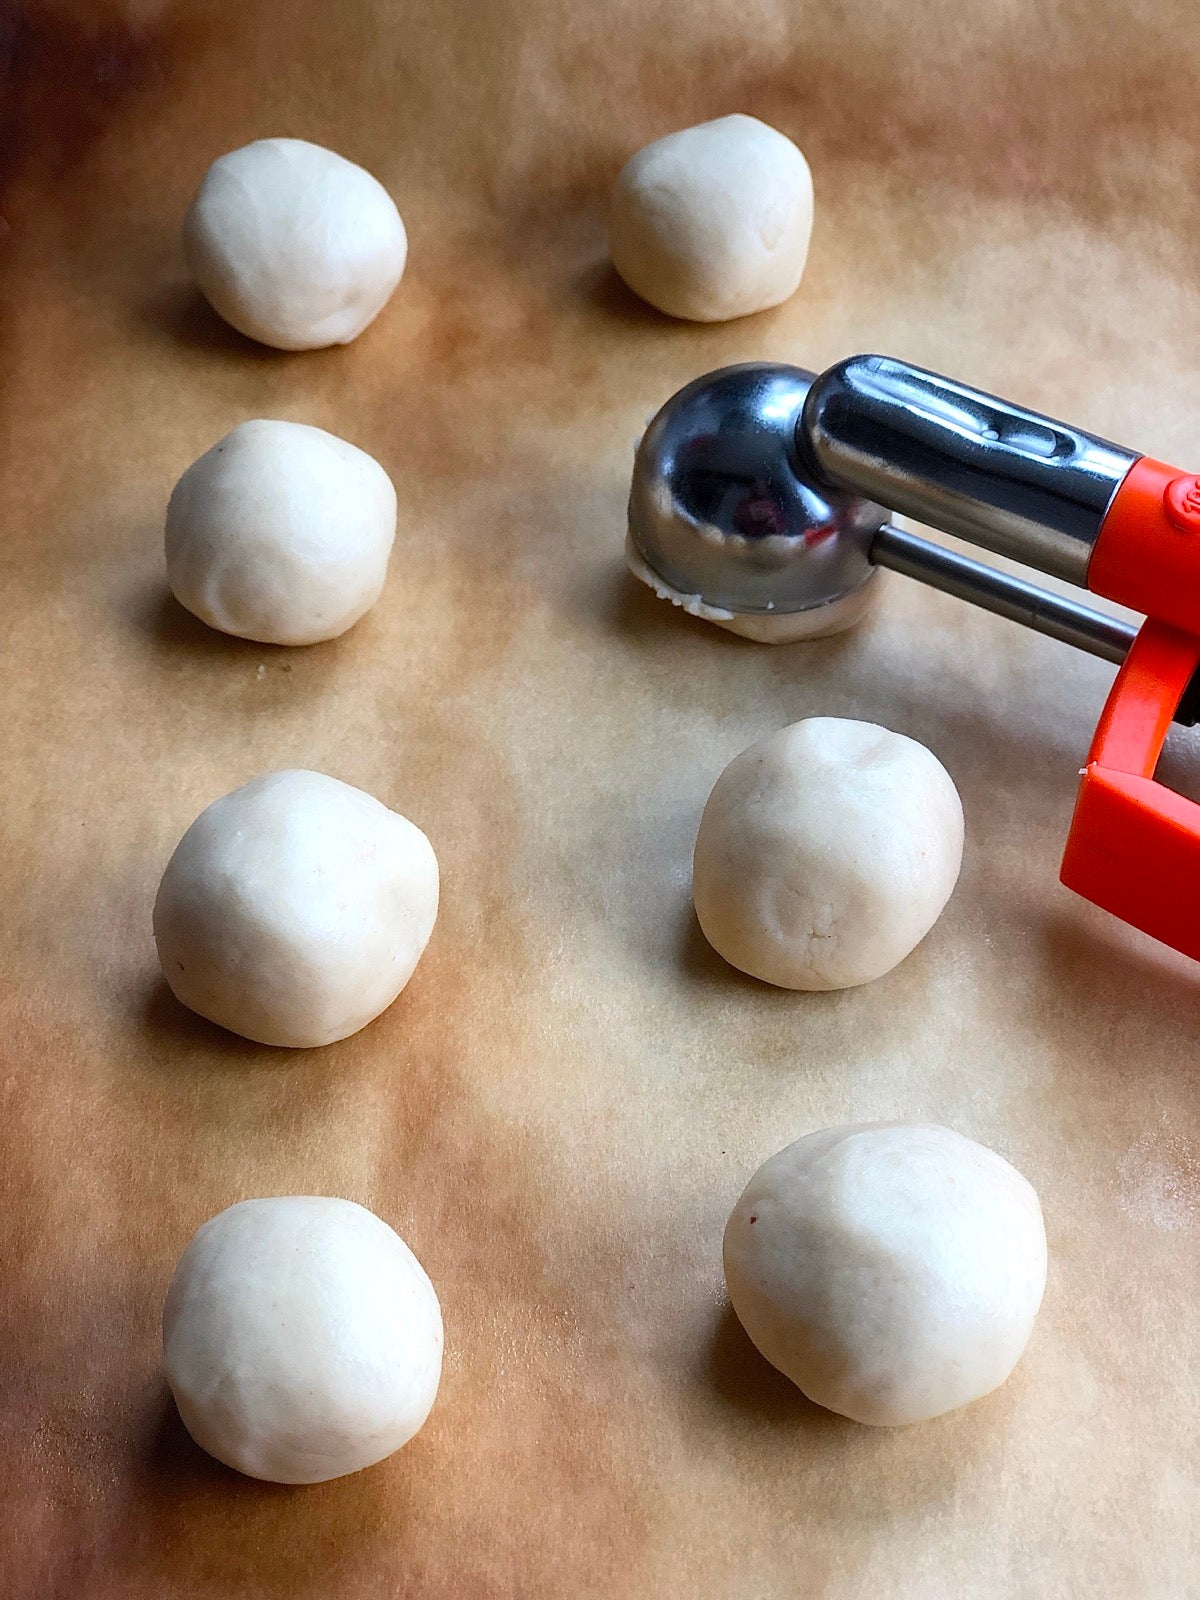
[[797, 443], [824, 482], [1080, 587], [1139, 459], [886, 355], [851, 355], [821, 373]]

